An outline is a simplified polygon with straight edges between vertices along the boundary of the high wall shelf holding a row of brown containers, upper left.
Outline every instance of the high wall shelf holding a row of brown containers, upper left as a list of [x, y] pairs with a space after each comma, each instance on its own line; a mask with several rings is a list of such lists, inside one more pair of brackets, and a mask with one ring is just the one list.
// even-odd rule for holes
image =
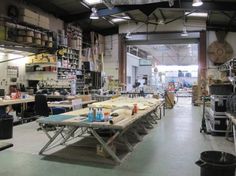
[[4, 31], [0, 44], [4, 47], [29, 52], [53, 50], [55, 37], [48, 29], [6, 17], [0, 18], [0, 27]]

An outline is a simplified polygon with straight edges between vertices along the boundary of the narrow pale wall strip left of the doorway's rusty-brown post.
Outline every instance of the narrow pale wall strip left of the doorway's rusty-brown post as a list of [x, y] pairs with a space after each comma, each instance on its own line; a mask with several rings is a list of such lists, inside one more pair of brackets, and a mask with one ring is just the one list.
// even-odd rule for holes
[[118, 69], [118, 35], [109, 35], [105, 37], [104, 72], [106, 76], [113, 76], [113, 79], [118, 79]]

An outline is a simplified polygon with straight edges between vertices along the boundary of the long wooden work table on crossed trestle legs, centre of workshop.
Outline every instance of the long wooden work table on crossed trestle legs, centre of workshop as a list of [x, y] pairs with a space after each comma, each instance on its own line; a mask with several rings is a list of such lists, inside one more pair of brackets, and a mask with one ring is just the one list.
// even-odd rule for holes
[[[132, 115], [132, 106], [137, 104], [139, 107], [138, 112]], [[104, 102], [93, 103], [90, 107], [103, 107], [105, 112], [118, 112], [117, 117], [113, 117], [113, 123], [111, 121], [106, 122], [89, 122], [87, 120], [88, 108], [70, 111], [60, 115], [53, 115], [46, 118], [38, 119], [37, 122], [49, 138], [49, 141], [39, 152], [42, 154], [52, 144], [65, 144], [69, 139], [74, 137], [84, 136], [86, 133], [92, 134], [92, 136], [100, 143], [104, 150], [114, 159], [120, 163], [121, 159], [112, 150], [112, 144], [117, 140], [121, 140], [122, 144], [127, 147], [129, 151], [133, 150], [132, 145], [127, 139], [127, 133], [131, 132], [137, 139], [140, 139], [139, 130], [147, 131], [147, 128], [153, 128], [154, 124], [157, 124], [157, 120], [160, 119], [159, 110], [163, 107], [162, 99], [144, 99], [144, 98], [116, 98], [107, 100]], [[127, 107], [130, 107], [127, 108]], [[124, 111], [123, 111], [124, 110]], [[119, 119], [119, 120], [118, 120]], [[53, 135], [47, 131], [47, 125], [56, 127], [56, 131]], [[64, 133], [66, 129], [66, 133]], [[101, 136], [97, 130], [107, 129], [111, 130], [112, 136], [109, 139]], [[78, 133], [77, 133], [78, 132]], [[75, 135], [77, 134], [77, 135]], [[61, 136], [63, 136], [60, 139]], [[55, 144], [55, 141], [58, 141]], [[51, 146], [52, 147], [52, 146]]]

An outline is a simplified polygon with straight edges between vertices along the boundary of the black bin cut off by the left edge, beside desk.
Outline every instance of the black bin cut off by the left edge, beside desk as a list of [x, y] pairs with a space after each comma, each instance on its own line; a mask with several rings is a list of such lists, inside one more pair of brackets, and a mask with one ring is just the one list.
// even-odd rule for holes
[[13, 117], [10, 115], [0, 116], [0, 139], [10, 139], [13, 134]]

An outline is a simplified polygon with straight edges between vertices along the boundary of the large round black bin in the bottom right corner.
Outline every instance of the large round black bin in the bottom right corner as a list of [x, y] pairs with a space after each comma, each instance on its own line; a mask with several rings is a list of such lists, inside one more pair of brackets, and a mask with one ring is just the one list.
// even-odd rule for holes
[[229, 153], [205, 151], [196, 164], [201, 167], [201, 176], [235, 176], [236, 157]]

